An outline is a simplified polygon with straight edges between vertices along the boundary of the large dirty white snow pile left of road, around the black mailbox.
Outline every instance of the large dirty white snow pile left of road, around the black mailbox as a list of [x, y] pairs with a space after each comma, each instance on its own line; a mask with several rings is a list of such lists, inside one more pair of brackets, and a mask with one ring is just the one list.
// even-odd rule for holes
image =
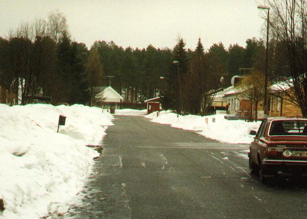
[[[57, 133], [59, 115], [66, 124]], [[0, 104], [0, 218], [61, 214], [76, 195], [98, 153], [112, 116], [83, 105]]]

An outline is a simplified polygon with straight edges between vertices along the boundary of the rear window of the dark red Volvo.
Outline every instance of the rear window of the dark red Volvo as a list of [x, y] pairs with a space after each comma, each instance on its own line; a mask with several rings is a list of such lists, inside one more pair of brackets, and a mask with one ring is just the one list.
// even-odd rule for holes
[[307, 135], [307, 121], [273, 120], [269, 135]]

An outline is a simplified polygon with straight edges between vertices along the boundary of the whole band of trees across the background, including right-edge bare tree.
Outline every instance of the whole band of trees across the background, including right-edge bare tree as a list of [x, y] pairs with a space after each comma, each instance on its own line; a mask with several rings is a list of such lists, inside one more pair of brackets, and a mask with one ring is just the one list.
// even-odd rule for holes
[[[266, 4], [271, 6], [269, 82], [293, 78], [295, 100], [305, 108], [306, 3]], [[195, 50], [185, 45], [178, 39], [172, 49], [134, 49], [96, 41], [88, 49], [71, 40], [63, 14], [51, 13], [47, 21], [22, 23], [7, 39], [0, 37], [0, 86], [9, 104], [31, 103], [43, 95], [51, 96], [53, 104], [91, 105], [94, 88], [108, 86], [105, 76], [114, 76], [111, 86], [126, 102], [162, 96], [165, 108], [206, 114], [214, 93], [230, 86], [234, 75], [264, 75], [266, 45], [261, 39], [248, 39], [245, 47], [225, 48], [220, 42], [205, 50], [201, 39]]]

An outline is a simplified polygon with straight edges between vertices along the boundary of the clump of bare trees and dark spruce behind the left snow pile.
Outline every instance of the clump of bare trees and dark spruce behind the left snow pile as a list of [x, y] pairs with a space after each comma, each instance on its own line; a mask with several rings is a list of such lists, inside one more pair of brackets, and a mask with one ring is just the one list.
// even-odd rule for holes
[[72, 42], [66, 18], [51, 13], [0, 38], [0, 86], [8, 104], [27, 104], [35, 96], [53, 103], [84, 103], [88, 99], [85, 69], [88, 50]]

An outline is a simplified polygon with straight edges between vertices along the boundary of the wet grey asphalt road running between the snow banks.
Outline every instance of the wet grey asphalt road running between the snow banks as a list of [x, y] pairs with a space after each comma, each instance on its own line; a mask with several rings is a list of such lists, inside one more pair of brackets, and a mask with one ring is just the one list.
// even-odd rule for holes
[[306, 180], [261, 184], [248, 145], [116, 116], [79, 203], [63, 218], [307, 218]]

